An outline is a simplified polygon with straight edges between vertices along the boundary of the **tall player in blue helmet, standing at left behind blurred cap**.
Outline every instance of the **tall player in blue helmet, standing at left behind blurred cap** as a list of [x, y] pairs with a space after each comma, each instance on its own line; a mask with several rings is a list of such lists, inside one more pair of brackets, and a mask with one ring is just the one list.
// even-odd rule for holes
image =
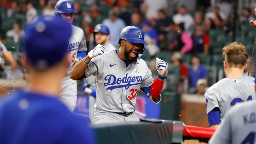
[[[55, 16], [57, 18], [62, 18], [72, 24], [74, 13], [74, 4], [69, 0], [59, 0], [55, 6]], [[69, 63], [70, 66], [67, 70], [67, 76], [62, 82], [62, 92], [60, 93], [60, 100], [68, 106], [68, 108], [73, 112], [76, 106], [77, 100], [77, 82], [72, 80], [69, 76], [70, 71], [77, 61], [84, 58], [86, 55], [87, 47], [84, 37], [84, 32], [81, 28], [72, 26], [72, 34], [66, 45], [67, 51], [69, 53]]]

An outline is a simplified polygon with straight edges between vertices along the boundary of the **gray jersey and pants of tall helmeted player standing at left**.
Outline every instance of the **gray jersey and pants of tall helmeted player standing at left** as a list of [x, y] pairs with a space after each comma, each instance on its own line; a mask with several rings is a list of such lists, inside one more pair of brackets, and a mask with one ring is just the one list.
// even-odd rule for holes
[[[84, 37], [84, 32], [81, 28], [72, 25], [72, 35], [67, 44], [67, 51], [69, 54], [69, 63], [70, 66], [67, 71], [71, 71], [75, 65], [75, 60], [77, 58], [77, 52], [87, 51], [86, 41]], [[76, 97], [77, 95], [77, 82], [72, 80], [70, 76], [67, 76], [63, 79], [62, 82], [62, 92], [60, 93], [60, 100], [71, 109], [75, 108]]]

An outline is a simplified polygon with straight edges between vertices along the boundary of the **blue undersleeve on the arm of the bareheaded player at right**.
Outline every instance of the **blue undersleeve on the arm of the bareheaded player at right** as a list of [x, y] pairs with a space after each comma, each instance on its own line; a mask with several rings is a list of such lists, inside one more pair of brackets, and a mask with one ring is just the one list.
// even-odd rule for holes
[[207, 115], [208, 115], [209, 127], [211, 125], [220, 124], [220, 110], [219, 110], [219, 108], [216, 107], [215, 109], [210, 111]]

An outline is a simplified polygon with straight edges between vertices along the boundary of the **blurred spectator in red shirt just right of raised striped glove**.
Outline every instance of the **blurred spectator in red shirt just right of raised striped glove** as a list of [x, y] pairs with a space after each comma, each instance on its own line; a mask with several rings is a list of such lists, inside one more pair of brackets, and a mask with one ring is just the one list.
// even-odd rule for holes
[[188, 70], [186, 65], [184, 65], [181, 61], [181, 53], [179, 52], [174, 52], [171, 56], [171, 63], [175, 66], [180, 67], [180, 78], [185, 79], [188, 78]]

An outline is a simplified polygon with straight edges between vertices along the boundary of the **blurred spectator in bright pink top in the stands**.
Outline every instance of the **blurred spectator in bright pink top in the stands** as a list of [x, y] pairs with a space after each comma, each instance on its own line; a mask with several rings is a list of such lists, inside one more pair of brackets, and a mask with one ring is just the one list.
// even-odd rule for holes
[[172, 52], [181, 52], [185, 54], [191, 51], [193, 46], [193, 41], [191, 37], [184, 32], [184, 23], [181, 22], [179, 25], [176, 26], [176, 31], [178, 31], [177, 39], [174, 40], [172, 44], [169, 45], [169, 49]]

